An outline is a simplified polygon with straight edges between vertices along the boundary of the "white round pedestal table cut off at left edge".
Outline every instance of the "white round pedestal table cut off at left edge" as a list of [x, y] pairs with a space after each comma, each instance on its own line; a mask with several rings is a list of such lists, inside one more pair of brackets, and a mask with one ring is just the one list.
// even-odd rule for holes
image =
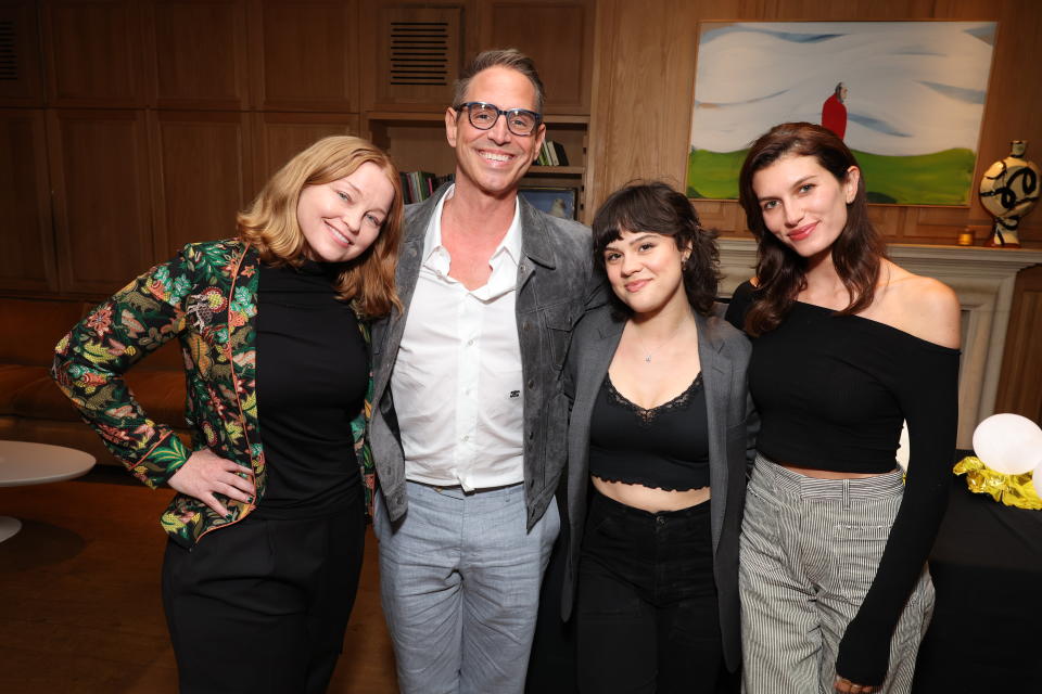
[[[94, 466], [94, 457], [64, 446], [0, 440], [0, 487], [42, 485], [84, 475]], [[0, 542], [22, 529], [22, 522], [0, 516]]]

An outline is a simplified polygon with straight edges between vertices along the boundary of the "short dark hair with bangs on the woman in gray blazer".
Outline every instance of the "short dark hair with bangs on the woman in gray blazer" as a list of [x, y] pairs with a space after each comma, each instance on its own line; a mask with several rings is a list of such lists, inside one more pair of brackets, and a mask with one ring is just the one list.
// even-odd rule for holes
[[[623, 231], [650, 231], [672, 236], [677, 248], [690, 247], [684, 261], [684, 291], [697, 312], [709, 316], [720, 282], [720, 250], [716, 232], [698, 221], [690, 201], [662, 181], [635, 181], [608, 196], [594, 216], [594, 262], [605, 270], [605, 248]], [[623, 316], [628, 306], [612, 293]]]

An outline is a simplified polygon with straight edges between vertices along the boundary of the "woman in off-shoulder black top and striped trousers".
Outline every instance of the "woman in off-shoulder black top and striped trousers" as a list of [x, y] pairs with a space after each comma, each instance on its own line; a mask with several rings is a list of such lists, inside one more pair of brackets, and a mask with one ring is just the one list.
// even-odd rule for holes
[[753, 337], [762, 419], [741, 535], [745, 690], [907, 692], [955, 445], [958, 301], [886, 258], [861, 169], [827, 129], [770, 130], [739, 191], [759, 260], [727, 317]]

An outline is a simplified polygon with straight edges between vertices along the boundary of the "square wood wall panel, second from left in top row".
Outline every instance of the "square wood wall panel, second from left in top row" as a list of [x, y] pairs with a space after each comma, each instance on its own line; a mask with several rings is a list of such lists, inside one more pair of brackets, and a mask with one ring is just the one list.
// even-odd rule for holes
[[51, 0], [43, 4], [51, 105], [144, 105], [140, 9], [140, 3], [130, 0]]

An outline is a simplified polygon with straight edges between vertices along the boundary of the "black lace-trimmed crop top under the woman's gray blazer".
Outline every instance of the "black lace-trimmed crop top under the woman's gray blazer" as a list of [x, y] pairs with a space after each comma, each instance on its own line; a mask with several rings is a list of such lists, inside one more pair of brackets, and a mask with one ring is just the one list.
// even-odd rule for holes
[[605, 374], [589, 422], [589, 474], [670, 491], [708, 487], [702, 374], [650, 410], [627, 400]]

